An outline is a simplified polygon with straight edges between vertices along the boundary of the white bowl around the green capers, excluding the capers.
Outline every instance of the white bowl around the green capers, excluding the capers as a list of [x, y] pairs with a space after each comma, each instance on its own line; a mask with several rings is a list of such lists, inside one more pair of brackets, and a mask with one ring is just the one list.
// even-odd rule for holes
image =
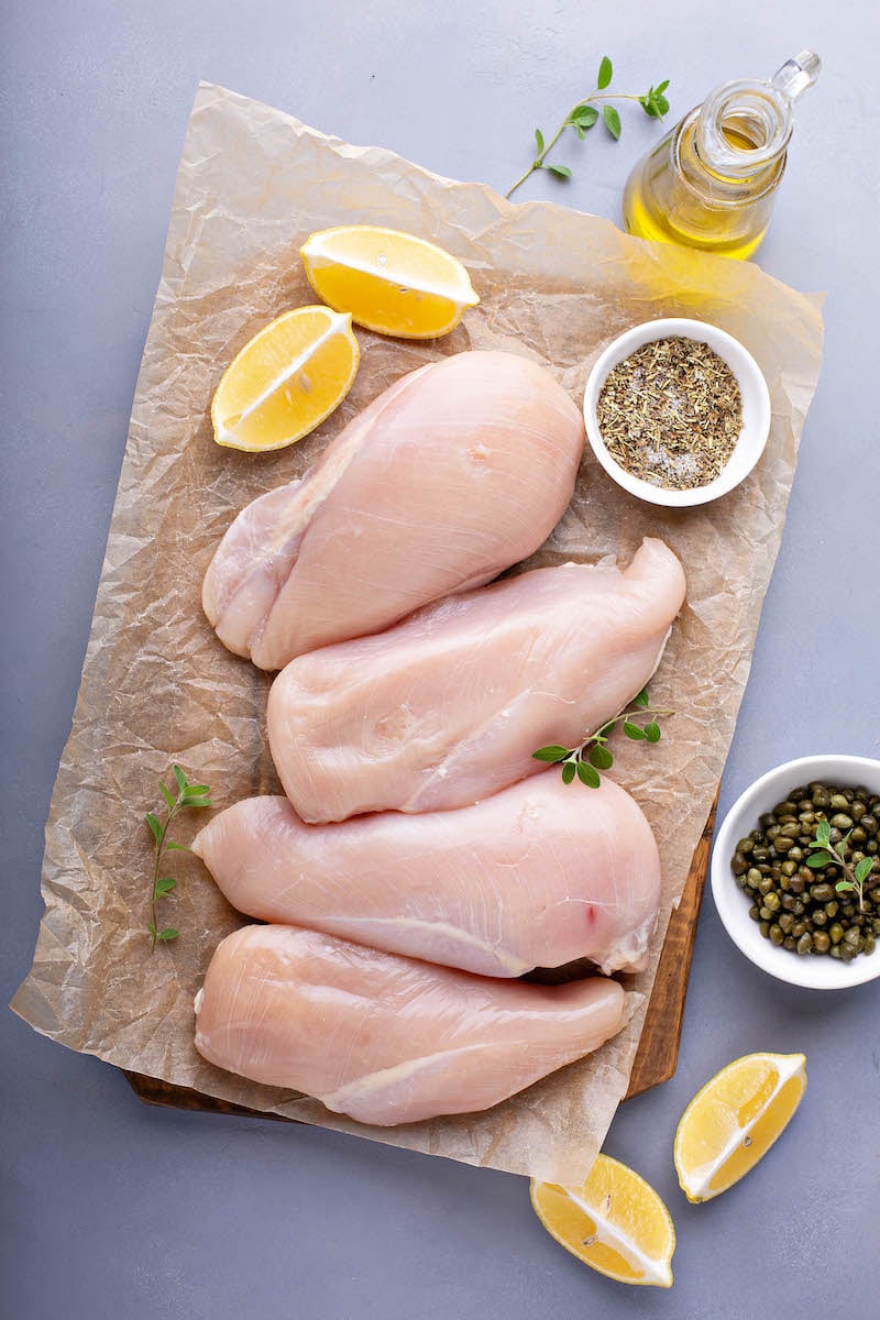
[[798, 954], [780, 949], [765, 940], [748, 915], [749, 900], [738, 886], [731, 871], [731, 858], [740, 838], [759, 828], [759, 817], [777, 803], [785, 801], [793, 788], [815, 781], [855, 788], [863, 785], [880, 793], [880, 760], [867, 756], [801, 756], [789, 760], [756, 779], [741, 797], [734, 803], [715, 830], [712, 847], [712, 898], [724, 929], [747, 958], [768, 972], [777, 981], [811, 990], [843, 990], [880, 977], [880, 948], [873, 953], [860, 953], [852, 962], [842, 962], [827, 954]]

